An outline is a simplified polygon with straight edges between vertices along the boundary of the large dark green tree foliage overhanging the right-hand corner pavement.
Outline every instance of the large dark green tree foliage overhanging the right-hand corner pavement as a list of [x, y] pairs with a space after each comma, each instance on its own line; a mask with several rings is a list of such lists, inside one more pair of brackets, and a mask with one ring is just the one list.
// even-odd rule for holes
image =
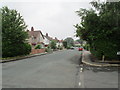
[[76, 36], [87, 41], [96, 56], [105, 55], [105, 59], [116, 59], [116, 53], [120, 51], [120, 1], [94, 1], [91, 5], [94, 10], [77, 11], [81, 23], [75, 25]]

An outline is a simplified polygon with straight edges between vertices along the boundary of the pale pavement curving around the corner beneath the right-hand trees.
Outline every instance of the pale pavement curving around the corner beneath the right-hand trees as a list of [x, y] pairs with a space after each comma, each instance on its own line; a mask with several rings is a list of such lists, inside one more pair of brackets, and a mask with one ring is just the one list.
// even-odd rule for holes
[[109, 63], [100, 63], [100, 62], [93, 62], [90, 59], [90, 51], [83, 51], [82, 54], [82, 62], [84, 64], [90, 65], [90, 66], [120, 66], [119, 64], [109, 64]]

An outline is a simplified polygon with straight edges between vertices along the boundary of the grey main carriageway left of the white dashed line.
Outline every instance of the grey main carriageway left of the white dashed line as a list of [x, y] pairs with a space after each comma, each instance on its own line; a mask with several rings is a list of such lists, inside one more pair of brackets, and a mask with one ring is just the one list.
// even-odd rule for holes
[[3, 64], [3, 88], [74, 88], [77, 87], [77, 50], [56, 51]]

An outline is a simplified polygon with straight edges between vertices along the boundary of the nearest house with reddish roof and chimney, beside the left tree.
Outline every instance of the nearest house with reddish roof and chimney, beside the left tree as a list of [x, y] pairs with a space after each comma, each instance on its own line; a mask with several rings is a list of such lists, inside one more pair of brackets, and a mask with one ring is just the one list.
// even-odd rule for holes
[[37, 44], [41, 44], [42, 47], [44, 47], [44, 35], [40, 30], [34, 30], [33, 27], [31, 27], [31, 31], [27, 30], [29, 34], [29, 39], [28, 42], [32, 45], [35, 46]]

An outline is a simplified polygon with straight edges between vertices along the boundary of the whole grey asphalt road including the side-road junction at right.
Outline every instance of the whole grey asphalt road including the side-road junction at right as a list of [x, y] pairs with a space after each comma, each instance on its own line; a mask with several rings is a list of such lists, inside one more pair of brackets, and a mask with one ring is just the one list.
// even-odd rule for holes
[[2, 65], [3, 88], [117, 88], [118, 69], [79, 65], [81, 52], [56, 51]]

